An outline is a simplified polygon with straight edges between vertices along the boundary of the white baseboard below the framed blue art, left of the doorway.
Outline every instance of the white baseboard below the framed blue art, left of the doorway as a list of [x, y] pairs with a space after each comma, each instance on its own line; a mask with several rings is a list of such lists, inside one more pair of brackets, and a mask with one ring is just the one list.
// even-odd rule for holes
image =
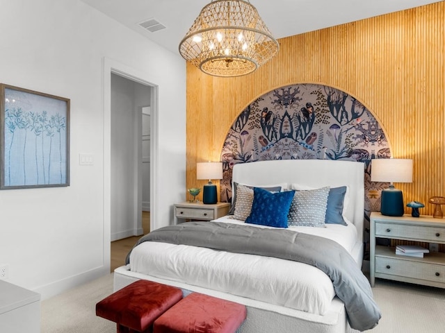
[[76, 275], [72, 275], [68, 278], [51, 282], [41, 287], [37, 287], [33, 289], [36, 293], [40, 293], [40, 299], [46, 300], [47, 298], [54, 297], [59, 293], [63, 293], [68, 289], [72, 289], [74, 287], [78, 287], [81, 284], [86, 282], [90, 282], [101, 276], [110, 274], [110, 265], [93, 268], [90, 271], [86, 271], [83, 273], [79, 273]]

